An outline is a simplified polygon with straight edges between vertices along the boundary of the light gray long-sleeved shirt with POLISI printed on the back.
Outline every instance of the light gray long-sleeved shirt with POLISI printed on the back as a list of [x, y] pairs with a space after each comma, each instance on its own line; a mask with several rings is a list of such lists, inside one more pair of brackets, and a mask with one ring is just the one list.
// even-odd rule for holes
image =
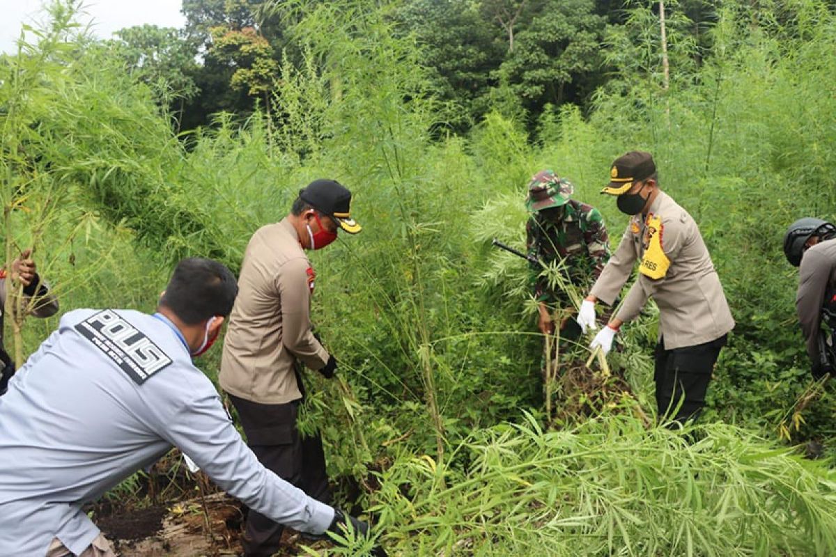
[[99, 529], [81, 511], [171, 446], [277, 522], [321, 534], [334, 509], [258, 463], [160, 314], [78, 310], [0, 397], [0, 555], [81, 553]]

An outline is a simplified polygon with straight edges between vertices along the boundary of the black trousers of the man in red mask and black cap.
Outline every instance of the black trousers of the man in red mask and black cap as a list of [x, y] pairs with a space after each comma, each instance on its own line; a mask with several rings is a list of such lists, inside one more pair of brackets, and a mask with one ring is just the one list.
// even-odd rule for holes
[[[229, 395], [247, 434], [247, 445], [265, 468], [286, 479], [314, 499], [331, 504], [331, 488], [325, 473], [322, 438], [302, 438], [296, 428], [299, 401], [259, 404]], [[283, 526], [250, 510], [244, 554], [269, 557], [279, 549]]]

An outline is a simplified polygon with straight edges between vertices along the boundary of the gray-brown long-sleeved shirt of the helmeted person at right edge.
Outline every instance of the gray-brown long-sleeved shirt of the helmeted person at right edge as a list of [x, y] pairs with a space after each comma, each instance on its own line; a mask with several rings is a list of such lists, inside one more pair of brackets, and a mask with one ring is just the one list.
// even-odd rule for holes
[[[798, 269], [795, 307], [812, 362], [818, 362], [818, 329], [825, 294], [836, 286], [836, 240], [823, 241], [804, 252]], [[831, 292], [833, 294], [833, 292]]]

